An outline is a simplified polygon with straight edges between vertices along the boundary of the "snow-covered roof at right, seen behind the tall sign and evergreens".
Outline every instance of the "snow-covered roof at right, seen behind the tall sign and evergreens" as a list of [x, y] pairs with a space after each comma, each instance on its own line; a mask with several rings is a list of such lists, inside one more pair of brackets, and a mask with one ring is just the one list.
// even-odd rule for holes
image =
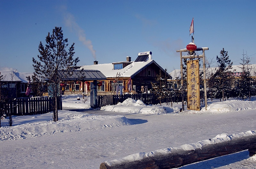
[[[256, 76], [256, 74], [255, 74], [256, 64], [252, 64], [251, 66], [252, 66], [251, 75], [252, 75], [252, 76]], [[242, 65], [233, 65], [231, 71], [232, 71], [232, 72], [238, 72], [238, 73], [239, 73], [239, 72], [243, 72], [240, 67], [242, 67]], [[218, 68], [218, 67], [209, 67], [209, 68], [206, 68], [206, 69], [205, 69], [205, 70], [206, 70], [206, 79], [210, 78], [210, 77], [207, 77], [207, 75], [210, 76], [212, 73], [214, 74], [215, 71], [217, 70], [217, 68]], [[203, 69], [203, 68], [200, 68], [200, 70], [201, 70], [201, 69]], [[170, 75], [172, 76], [172, 80], [175, 80], [176, 77], [179, 77], [179, 79], [180, 79], [180, 77], [181, 77], [181, 76], [180, 76], [180, 69], [175, 69], [175, 70], [173, 70], [173, 71], [170, 73]], [[239, 74], [238, 74], [237, 76], [239, 76]]]

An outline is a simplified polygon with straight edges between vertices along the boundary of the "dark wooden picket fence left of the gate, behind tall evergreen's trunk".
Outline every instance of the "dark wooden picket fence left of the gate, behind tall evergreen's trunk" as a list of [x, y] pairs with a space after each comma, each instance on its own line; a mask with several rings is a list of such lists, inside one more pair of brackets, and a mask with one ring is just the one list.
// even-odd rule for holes
[[[52, 97], [17, 98], [9, 103], [1, 103], [0, 106], [2, 113], [23, 116], [48, 113], [52, 111], [52, 102]], [[62, 109], [60, 97], [58, 98], [58, 109]]]

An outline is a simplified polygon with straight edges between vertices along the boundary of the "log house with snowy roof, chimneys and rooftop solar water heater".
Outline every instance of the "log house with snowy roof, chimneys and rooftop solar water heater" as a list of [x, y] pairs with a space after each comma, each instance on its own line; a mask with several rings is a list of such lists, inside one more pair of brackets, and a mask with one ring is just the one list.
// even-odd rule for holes
[[[127, 56], [126, 61], [105, 64], [94, 61], [93, 65], [81, 66], [79, 69], [99, 70], [106, 76], [106, 80], [98, 80], [98, 94], [144, 93], [152, 88], [151, 82], [156, 82], [159, 71], [165, 74], [164, 69], [152, 60], [152, 52], [138, 53], [135, 61], [131, 61], [131, 57]], [[89, 83], [84, 84], [87, 89]]]

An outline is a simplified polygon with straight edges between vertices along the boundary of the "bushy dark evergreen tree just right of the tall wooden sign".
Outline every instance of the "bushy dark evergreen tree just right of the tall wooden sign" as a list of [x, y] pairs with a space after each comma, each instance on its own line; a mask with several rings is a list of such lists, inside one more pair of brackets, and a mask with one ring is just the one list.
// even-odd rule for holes
[[220, 96], [220, 100], [222, 97], [222, 101], [227, 96], [231, 90], [233, 78], [232, 78], [232, 64], [231, 60], [228, 56], [228, 51], [225, 51], [224, 48], [220, 51], [220, 57], [216, 57], [218, 68], [215, 74], [210, 78], [209, 86], [212, 88], [213, 93], [216, 96]]

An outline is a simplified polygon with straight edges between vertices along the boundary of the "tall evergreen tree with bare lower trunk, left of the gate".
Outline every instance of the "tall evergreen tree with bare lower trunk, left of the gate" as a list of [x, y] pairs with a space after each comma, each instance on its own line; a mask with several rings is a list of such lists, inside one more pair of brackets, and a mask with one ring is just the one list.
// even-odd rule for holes
[[48, 32], [46, 36], [46, 45], [43, 46], [40, 41], [37, 55], [39, 61], [33, 58], [33, 67], [35, 74], [40, 79], [48, 79], [48, 93], [53, 97], [53, 120], [58, 121], [58, 96], [60, 96], [60, 81], [63, 77], [60, 76], [62, 70], [68, 67], [76, 66], [79, 61], [78, 57], [74, 56], [74, 43], [68, 47], [68, 39], [63, 39], [61, 27], [55, 27], [52, 34]]

